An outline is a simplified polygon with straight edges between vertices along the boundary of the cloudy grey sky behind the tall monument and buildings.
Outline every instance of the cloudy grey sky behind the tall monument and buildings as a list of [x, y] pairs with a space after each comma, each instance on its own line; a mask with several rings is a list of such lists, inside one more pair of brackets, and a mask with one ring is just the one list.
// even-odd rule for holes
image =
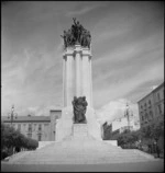
[[135, 105], [164, 81], [163, 7], [156, 1], [3, 3], [2, 115], [12, 104], [20, 115], [48, 115], [63, 105], [61, 34], [73, 18], [92, 37], [94, 107], [111, 116], [112, 103]]

